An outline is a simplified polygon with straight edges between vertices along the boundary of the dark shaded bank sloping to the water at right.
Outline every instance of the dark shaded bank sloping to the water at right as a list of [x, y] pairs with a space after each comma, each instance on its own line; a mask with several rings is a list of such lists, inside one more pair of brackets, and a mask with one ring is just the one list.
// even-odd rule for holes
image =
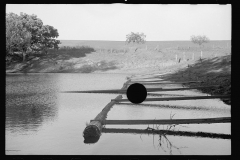
[[[231, 95], [231, 56], [199, 60], [176, 73], [165, 75], [162, 78], [176, 82], [202, 81], [202, 83], [186, 85], [190, 87], [219, 85], [219, 87], [204, 88], [201, 91], [211, 95]], [[231, 104], [231, 99], [224, 100], [224, 102]]]

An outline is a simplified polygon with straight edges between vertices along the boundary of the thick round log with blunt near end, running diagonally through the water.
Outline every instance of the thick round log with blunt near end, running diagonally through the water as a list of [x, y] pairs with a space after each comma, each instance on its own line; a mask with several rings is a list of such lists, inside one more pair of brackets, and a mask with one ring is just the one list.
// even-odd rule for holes
[[[130, 80], [128, 80], [127, 82], [125, 82], [123, 84], [123, 87], [121, 89], [126, 89], [126, 84], [129, 82]], [[122, 95], [118, 95], [114, 100], [120, 100], [122, 99]], [[93, 138], [93, 137], [100, 137], [101, 136], [101, 131], [102, 131], [102, 125], [103, 125], [103, 121], [106, 119], [107, 117], [107, 113], [110, 111], [110, 109], [112, 108], [112, 106], [117, 103], [116, 101], [111, 101], [109, 102], [104, 108], [103, 110], [94, 118], [93, 121], [90, 122], [90, 124], [84, 129], [83, 131], [83, 137], [85, 139], [87, 138]]]

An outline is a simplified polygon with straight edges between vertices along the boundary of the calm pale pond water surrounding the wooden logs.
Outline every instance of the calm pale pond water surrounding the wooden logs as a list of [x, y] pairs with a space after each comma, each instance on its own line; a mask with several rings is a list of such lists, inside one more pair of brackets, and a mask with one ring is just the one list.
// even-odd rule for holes
[[[139, 133], [147, 125], [108, 125], [94, 144], [85, 144], [86, 123], [117, 94], [60, 91], [120, 89], [124, 74], [11, 74], [6, 77], [6, 154], [8, 155], [221, 155], [231, 154], [231, 139]], [[156, 86], [147, 86], [156, 87]], [[158, 86], [159, 87], [159, 86]], [[161, 87], [179, 87], [168, 85]], [[206, 95], [197, 91], [153, 92], [153, 96]], [[156, 95], [163, 94], [163, 95]], [[126, 98], [124, 95], [123, 98]], [[220, 100], [117, 104], [107, 119], [230, 117]], [[166, 129], [167, 126], [150, 125]], [[132, 130], [134, 129], [134, 131]], [[231, 124], [177, 125], [174, 130], [231, 134]]]

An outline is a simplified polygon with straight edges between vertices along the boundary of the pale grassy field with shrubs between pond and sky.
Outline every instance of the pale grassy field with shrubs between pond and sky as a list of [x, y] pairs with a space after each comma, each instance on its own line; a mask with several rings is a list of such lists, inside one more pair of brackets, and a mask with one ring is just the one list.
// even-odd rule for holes
[[230, 55], [231, 41], [211, 41], [199, 47], [190, 41], [150, 41], [126, 45], [124, 41], [62, 40], [59, 50], [29, 56], [7, 65], [7, 72], [114, 72], [165, 70], [201, 59]]

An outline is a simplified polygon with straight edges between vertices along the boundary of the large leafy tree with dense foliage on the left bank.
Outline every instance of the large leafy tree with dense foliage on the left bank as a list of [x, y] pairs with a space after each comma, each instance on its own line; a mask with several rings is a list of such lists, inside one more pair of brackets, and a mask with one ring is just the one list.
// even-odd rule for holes
[[46, 51], [48, 48], [58, 49], [58, 31], [52, 26], [43, 25], [36, 15], [20, 13], [6, 14], [6, 53], [22, 52], [23, 61], [27, 51]]

